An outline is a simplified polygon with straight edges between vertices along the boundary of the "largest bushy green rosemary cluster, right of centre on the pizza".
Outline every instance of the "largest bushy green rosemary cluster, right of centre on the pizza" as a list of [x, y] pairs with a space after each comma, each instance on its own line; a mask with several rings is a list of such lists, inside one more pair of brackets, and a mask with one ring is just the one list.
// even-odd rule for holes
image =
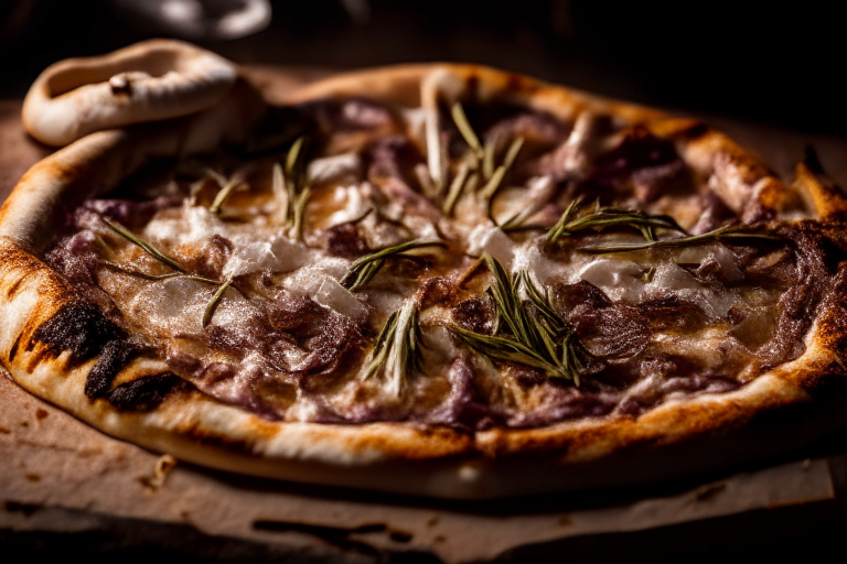
[[[486, 256], [484, 260], [494, 275], [494, 283], [485, 291], [497, 310], [494, 334], [455, 325], [450, 327], [453, 334], [470, 349], [493, 360], [536, 368], [579, 386], [579, 372], [590, 354], [549, 296], [542, 294], [526, 272], [512, 278], [495, 259]], [[527, 300], [519, 296], [522, 288]]]

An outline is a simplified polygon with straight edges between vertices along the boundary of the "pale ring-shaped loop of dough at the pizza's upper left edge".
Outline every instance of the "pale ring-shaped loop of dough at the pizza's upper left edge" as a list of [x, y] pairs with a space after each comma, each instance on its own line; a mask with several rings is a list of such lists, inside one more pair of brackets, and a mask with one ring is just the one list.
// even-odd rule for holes
[[171, 40], [137, 43], [108, 55], [47, 67], [23, 102], [23, 124], [61, 147], [94, 131], [194, 113], [222, 101], [235, 65]]

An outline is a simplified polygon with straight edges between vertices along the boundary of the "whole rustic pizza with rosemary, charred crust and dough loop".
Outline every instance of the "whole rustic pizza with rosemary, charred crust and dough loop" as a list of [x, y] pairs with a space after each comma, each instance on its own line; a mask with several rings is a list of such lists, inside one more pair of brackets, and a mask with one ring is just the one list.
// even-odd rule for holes
[[[272, 100], [272, 102], [271, 102]], [[45, 70], [0, 210], [32, 393], [243, 474], [624, 486], [845, 423], [847, 200], [698, 120], [473, 65], [296, 91], [147, 42]]]

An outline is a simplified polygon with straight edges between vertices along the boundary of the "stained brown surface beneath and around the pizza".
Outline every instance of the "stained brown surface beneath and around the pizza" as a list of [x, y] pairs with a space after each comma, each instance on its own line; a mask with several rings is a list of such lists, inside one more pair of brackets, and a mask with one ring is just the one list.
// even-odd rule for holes
[[[324, 76], [256, 68], [266, 91]], [[50, 150], [0, 100], [0, 200]], [[847, 140], [709, 121], [787, 175], [814, 145], [847, 184]], [[800, 453], [637, 490], [458, 503], [298, 486], [178, 464], [116, 441], [0, 378], [0, 551], [88, 561], [711, 560], [822, 553], [847, 525], [847, 432]]]

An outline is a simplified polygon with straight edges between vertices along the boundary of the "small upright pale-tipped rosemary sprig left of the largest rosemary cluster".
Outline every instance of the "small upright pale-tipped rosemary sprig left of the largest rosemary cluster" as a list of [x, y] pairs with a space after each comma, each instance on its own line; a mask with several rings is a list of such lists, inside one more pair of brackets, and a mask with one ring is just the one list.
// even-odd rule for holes
[[408, 376], [420, 370], [422, 340], [418, 306], [409, 300], [388, 317], [379, 332], [365, 378], [382, 370], [390, 382], [389, 391], [399, 395]]

